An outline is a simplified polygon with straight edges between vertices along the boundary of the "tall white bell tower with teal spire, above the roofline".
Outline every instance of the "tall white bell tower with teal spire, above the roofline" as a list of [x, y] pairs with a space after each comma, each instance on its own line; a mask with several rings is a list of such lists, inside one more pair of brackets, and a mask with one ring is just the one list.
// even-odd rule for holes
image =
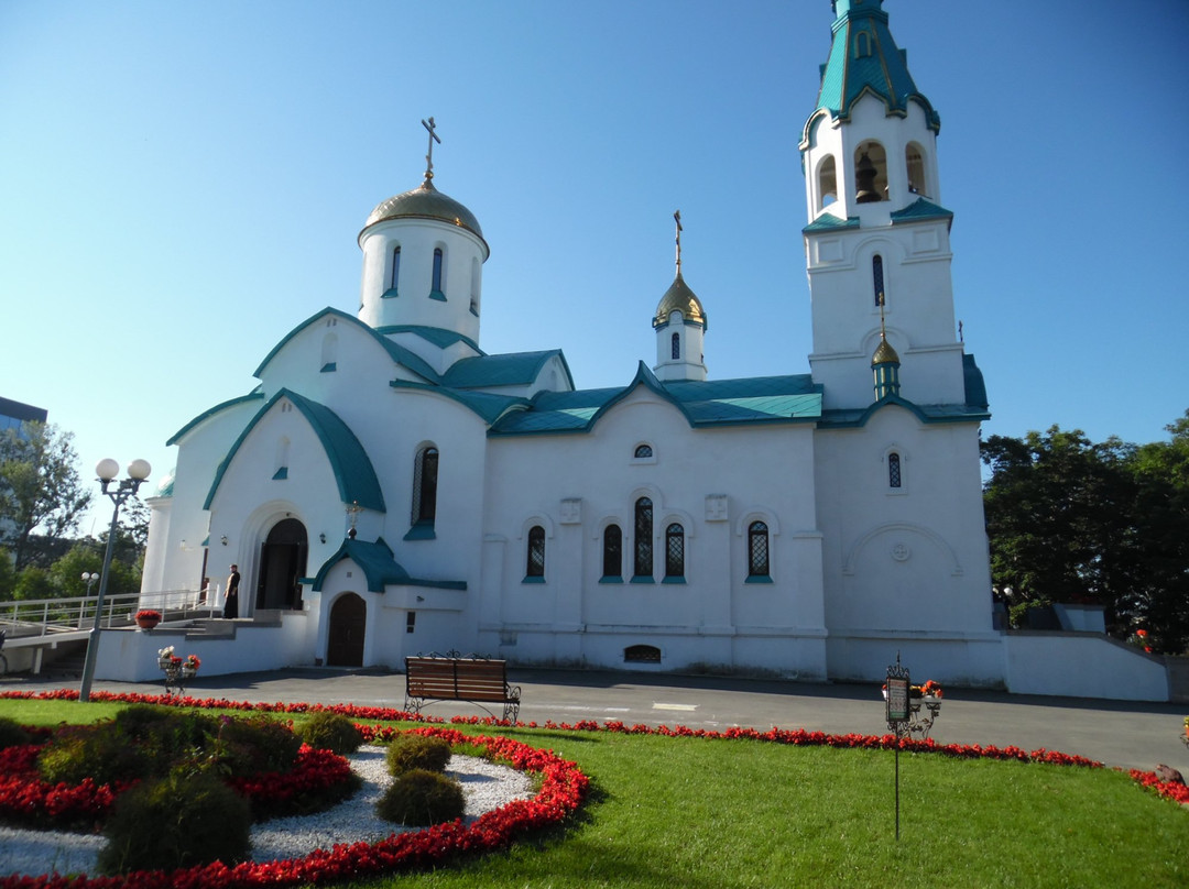
[[830, 56], [801, 134], [813, 380], [825, 408], [872, 403], [872, 355], [900, 358], [900, 396], [965, 401], [940, 118], [908, 72], [883, 0], [835, 0]]

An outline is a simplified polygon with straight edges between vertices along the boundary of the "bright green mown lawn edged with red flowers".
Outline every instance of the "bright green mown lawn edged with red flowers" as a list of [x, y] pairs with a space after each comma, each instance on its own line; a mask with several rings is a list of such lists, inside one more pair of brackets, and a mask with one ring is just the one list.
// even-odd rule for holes
[[[119, 706], [0, 701], [0, 715], [54, 725]], [[1106, 769], [901, 754], [897, 843], [892, 752], [499, 733], [553, 749], [591, 776], [574, 822], [508, 853], [358, 885], [1189, 885], [1189, 809]]]

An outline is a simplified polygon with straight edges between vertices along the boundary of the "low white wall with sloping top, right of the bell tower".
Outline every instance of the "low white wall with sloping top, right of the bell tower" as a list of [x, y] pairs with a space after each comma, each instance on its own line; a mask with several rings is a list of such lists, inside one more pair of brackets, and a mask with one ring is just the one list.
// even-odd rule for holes
[[1097, 633], [1013, 631], [1004, 655], [1007, 689], [1015, 694], [1169, 700], [1162, 658]]

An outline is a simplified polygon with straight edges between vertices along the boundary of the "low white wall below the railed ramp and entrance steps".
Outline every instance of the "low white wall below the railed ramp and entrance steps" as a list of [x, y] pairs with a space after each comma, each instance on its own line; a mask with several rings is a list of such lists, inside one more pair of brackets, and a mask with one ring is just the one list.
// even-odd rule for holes
[[161, 626], [151, 632], [106, 630], [99, 644], [95, 677], [114, 682], [162, 680], [157, 651], [166, 645], [172, 645], [178, 657], [197, 655], [202, 661], [200, 676], [313, 664], [308, 626], [306, 612], [294, 611], [282, 614], [281, 626], [238, 623], [233, 636], [188, 635], [184, 629]]

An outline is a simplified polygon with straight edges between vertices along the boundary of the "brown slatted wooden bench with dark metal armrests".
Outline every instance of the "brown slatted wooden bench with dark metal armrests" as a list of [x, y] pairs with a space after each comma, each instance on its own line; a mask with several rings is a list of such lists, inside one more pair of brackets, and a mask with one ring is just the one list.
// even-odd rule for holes
[[[404, 658], [404, 708], [421, 713], [432, 701], [503, 704], [503, 719], [520, 715], [520, 686], [508, 685], [508, 662], [486, 657], [438, 655]], [[495, 715], [495, 713], [491, 713]]]

